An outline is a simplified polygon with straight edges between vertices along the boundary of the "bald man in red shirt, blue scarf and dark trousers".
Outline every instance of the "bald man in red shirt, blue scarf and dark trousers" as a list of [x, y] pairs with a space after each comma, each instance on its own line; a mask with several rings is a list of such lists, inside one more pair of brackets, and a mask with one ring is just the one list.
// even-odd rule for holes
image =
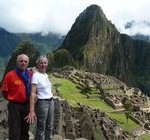
[[29, 123], [25, 120], [29, 112], [31, 79], [28, 64], [27, 55], [18, 55], [16, 68], [5, 75], [2, 83], [2, 95], [8, 100], [9, 140], [29, 140]]

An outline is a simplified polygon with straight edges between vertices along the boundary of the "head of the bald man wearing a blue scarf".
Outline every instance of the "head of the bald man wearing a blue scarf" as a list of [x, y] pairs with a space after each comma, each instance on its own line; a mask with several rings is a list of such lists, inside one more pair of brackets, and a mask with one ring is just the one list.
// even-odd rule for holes
[[28, 67], [28, 64], [29, 64], [28, 56], [24, 54], [18, 56], [17, 66], [21, 71], [24, 71]]

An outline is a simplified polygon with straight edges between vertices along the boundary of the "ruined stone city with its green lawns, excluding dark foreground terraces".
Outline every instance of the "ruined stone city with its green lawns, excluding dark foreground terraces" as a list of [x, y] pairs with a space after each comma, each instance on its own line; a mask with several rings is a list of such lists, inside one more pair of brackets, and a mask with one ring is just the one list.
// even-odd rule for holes
[[[123, 131], [123, 139], [127, 136], [127, 139], [140, 139], [148, 135], [149, 97], [139, 89], [128, 87], [114, 77], [98, 73], [66, 70], [54, 73], [54, 76], [57, 78], [51, 80], [58, 96], [65, 98], [73, 107], [80, 108], [83, 105], [91, 110], [105, 112], [119, 126], [119, 133], [122, 134]], [[94, 117], [92, 120], [97, 122]], [[111, 126], [109, 121], [107, 124]], [[111, 130], [113, 132], [114, 127], [106, 130], [108, 139], [112, 138]]]

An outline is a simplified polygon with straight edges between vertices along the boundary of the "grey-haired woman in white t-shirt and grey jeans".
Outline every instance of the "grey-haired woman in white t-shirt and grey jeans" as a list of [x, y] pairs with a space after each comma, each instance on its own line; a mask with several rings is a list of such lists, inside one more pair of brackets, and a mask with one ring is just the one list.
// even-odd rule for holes
[[37, 59], [37, 71], [31, 79], [30, 112], [26, 119], [28, 123], [37, 119], [35, 140], [52, 139], [54, 101], [52, 84], [46, 73], [47, 65], [48, 59], [40, 56]]

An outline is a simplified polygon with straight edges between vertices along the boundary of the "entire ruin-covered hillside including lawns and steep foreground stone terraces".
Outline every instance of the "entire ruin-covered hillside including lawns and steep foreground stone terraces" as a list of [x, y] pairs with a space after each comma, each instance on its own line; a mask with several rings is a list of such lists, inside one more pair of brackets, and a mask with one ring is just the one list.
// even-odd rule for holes
[[[149, 97], [114, 77], [77, 70], [50, 75], [55, 97], [54, 140], [148, 140]], [[0, 136], [8, 137], [7, 108], [0, 98]], [[31, 126], [31, 139], [35, 124]]]

